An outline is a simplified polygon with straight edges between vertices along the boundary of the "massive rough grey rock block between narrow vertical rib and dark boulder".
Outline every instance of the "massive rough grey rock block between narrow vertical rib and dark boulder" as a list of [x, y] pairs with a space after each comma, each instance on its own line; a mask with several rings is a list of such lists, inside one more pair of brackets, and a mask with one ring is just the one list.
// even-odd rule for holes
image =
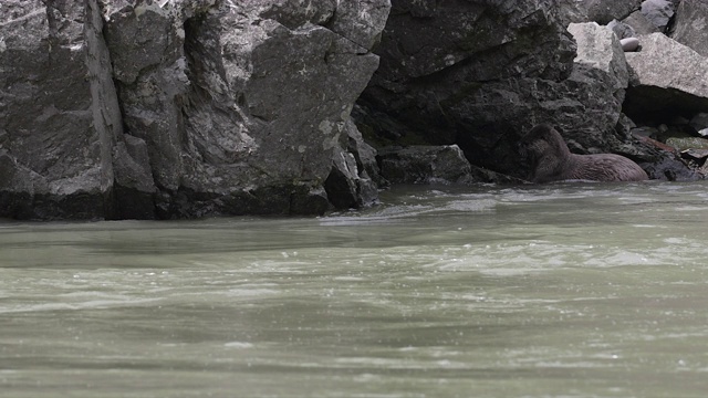
[[378, 64], [363, 45], [383, 29], [387, 2], [217, 2], [208, 13], [188, 4], [116, 9], [106, 30], [127, 60], [145, 46], [160, 54], [116, 75], [127, 133], [150, 149], [163, 217], [319, 213], [327, 199], [342, 203], [323, 184], [330, 172], [358, 178], [336, 159], [348, 146], [352, 104]]

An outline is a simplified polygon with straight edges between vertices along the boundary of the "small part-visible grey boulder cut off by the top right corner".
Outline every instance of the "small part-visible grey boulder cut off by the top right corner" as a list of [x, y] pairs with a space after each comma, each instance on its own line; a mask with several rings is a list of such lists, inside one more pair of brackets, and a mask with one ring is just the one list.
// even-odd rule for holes
[[681, 1], [676, 9], [671, 39], [708, 56], [708, 2]]

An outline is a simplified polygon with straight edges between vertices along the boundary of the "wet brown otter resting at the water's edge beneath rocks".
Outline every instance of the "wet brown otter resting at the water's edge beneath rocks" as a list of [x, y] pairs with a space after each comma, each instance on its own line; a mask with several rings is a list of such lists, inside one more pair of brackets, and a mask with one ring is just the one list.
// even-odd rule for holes
[[530, 163], [529, 180], [550, 182], [570, 179], [593, 181], [643, 181], [648, 176], [639, 165], [614, 154], [572, 154], [563, 137], [550, 125], [534, 126], [519, 143]]

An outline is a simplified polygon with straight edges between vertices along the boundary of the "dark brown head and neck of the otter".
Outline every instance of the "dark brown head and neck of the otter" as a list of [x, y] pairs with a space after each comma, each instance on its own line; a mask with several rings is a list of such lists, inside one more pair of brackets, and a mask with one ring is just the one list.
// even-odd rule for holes
[[534, 182], [562, 179], [571, 157], [563, 137], [548, 124], [537, 125], [521, 137], [519, 154], [529, 167], [528, 179]]

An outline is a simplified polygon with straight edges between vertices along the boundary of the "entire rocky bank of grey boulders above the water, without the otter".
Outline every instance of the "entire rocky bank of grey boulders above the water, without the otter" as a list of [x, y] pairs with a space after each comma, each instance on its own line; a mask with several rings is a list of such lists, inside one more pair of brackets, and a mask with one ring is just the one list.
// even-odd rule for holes
[[702, 179], [706, 19], [678, 0], [2, 1], [0, 217], [321, 214], [388, 184], [521, 184], [538, 123]]

